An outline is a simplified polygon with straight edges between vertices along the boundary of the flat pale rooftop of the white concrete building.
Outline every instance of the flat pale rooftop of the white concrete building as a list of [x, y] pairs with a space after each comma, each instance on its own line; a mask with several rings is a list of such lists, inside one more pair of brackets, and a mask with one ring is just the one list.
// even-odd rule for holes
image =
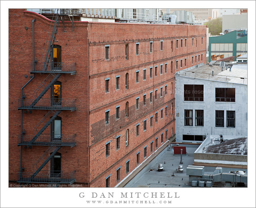
[[247, 65], [232, 65], [231, 67], [231, 71], [229, 68], [226, 70], [226, 66], [221, 71], [219, 65], [201, 65], [178, 71], [175, 76], [247, 85]]

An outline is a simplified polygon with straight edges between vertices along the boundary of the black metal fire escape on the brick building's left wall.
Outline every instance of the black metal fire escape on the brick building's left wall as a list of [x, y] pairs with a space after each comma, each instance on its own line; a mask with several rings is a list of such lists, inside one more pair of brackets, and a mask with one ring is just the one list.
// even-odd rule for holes
[[[60, 99], [53, 100], [53, 98], [45, 99], [43, 96], [51, 88], [51, 86], [58, 80], [58, 78], [63, 73], [68, 73], [70, 75], [76, 74], [75, 65], [67, 65], [64, 63], [54, 63], [52, 58], [52, 51], [54, 47], [54, 42], [56, 39], [56, 34], [58, 31], [58, 25], [61, 18], [56, 14], [54, 21], [52, 33], [50, 40], [48, 41], [48, 48], [45, 55], [43, 63], [37, 63], [34, 60], [34, 33], [33, 33], [33, 63], [31, 65], [31, 73], [33, 78], [35, 73], [45, 74], [48, 73], [48, 76], [43, 80], [43, 82], [37, 87], [33, 93], [34, 99], [25, 99], [23, 94], [23, 86], [21, 89], [21, 99], [19, 99], [19, 110], [21, 110], [21, 135], [19, 136], [19, 144], [21, 146], [21, 165], [22, 165], [22, 146], [27, 148], [32, 148], [32, 146], [49, 146], [44, 154], [37, 160], [33, 165], [34, 171], [27, 173], [23, 171], [23, 168], [20, 168], [18, 172], [18, 183], [74, 183], [76, 179], [72, 174], [63, 174], [62, 171], [58, 173], [51, 173], [49, 171], [42, 171], [45, 165], [54, 157], [58, 150], [62, 146], [70, 146], [71, 148], [76, 146], [75, 135], [65, 136], [60, 134], [58, 138], [52, 138], [52, 134], [47, 135], [43, 134], [45, 129], [56, 119], [56, 117], [63, 110], [76, 110], [76, 100], [64, 100]], [[34, 23], [35, 19], [33, 20]], [[33, 79], [32, 78], [32, 79]], [[31, 80], [32, 80], [31, 79]], [[30, 81], [31, 81], [30, 80]], [[23, 127], [23, 110], [25, 112], [29, 111], [32, 113], [32, 110], [48, 110], [47, 114], [39, 121], [39, 123], [34, 127], [33, 132], [35, 135], [25, 135]], [[52, 117], [50, 117], [52, 116]], [[49, 119], [50, 117], [50, 119]], [[49, 119], [49, 120], [48, 120]], [[50, 154], [50, 156], [48, 156]]]

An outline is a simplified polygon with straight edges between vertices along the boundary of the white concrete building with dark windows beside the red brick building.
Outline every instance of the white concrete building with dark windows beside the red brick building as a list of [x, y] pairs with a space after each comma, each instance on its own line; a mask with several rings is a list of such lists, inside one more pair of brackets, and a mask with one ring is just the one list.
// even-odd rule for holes
[[201, 65], [175, 74], [176, 142], [247, 136], [247, 65]]

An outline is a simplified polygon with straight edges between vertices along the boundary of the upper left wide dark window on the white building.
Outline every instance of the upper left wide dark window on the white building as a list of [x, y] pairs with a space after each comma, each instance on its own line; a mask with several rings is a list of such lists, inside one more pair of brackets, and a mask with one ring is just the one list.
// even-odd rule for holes
[[184, 85], [184, 101], [204, 101], [204, 85]]

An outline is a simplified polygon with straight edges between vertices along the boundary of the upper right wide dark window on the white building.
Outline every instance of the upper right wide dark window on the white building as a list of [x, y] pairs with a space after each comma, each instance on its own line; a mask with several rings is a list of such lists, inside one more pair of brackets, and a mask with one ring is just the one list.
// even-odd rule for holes
[[215, 88], [216, 102], [235, 102], [235, 88]]

